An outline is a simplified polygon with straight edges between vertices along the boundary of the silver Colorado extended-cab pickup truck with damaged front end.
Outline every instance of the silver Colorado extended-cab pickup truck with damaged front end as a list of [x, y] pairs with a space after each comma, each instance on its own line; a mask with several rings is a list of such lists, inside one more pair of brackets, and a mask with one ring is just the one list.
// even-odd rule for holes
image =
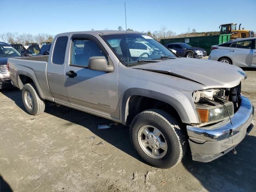
[[130, 126], [135, 150], [159, 168], [178, 164], [187, 147], [200, 162], [236, 152], [254, 126], [241, 68], [179, 58], [142, 33], [58, 34], [49, 56], [8, 67], [29, 114], [49, 100]]

